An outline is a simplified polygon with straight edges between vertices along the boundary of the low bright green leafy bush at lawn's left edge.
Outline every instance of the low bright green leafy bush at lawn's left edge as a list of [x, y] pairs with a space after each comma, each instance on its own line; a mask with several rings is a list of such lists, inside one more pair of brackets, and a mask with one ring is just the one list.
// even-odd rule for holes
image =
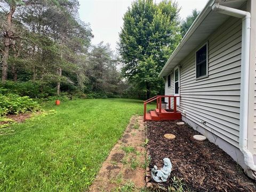
[[3, 95], [0, 93], [0, 116], [37, 110], [39, 110], [38, 103], [27, 96], [20, 97], [18, 94]]

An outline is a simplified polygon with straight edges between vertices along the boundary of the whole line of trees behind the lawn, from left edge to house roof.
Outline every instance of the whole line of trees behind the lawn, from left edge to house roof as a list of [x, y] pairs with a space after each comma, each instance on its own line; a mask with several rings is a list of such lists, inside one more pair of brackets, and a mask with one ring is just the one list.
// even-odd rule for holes
[[109, 44], [91, 45], [93, 31], [78, 9], [78, 0], [0, 0], [3, 87], [29, 82], [28, 89], [36, 84], [46, 96], [144, 98], [163, 91], [157, 73], [185, 33], [182, 26], [191, 25], [181, 23], [177, 3], [134, 1], [119, 33], [119, 56]]

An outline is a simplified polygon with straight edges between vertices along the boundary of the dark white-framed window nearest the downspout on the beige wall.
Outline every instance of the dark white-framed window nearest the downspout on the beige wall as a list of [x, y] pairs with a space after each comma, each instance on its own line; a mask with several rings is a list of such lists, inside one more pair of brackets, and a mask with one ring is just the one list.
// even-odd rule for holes
[[207, 43], [196, 52], [196, 78], [208, 75], [208, 46]]

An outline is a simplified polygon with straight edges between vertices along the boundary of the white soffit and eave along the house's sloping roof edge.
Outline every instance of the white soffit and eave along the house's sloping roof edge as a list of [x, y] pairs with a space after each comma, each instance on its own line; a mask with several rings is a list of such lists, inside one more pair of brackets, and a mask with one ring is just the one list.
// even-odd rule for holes
[[[256, 1], [256, 0], [255, 0]], [[197, 49], [201, 44], [205, 43], [215, 30], [217, 30], [229, 16], [212, 11], [212, 5], [219, 2], [220, 5], [238, 9], [246, 2], [246, 0], [210, 0], [202, 12], [198, 15], [193, 25], [189, 28], [180, 44], [172, 53], [169, 60], [165, 63], [159, 77], [165, 77], [170, 74], [171, 70], [178, 65], [191, 51]]]

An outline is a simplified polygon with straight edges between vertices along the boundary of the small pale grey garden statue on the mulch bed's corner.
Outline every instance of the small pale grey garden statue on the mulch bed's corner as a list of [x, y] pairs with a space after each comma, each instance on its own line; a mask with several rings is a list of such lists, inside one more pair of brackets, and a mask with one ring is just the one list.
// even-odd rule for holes
[[169, 158], [164, 158], [164, 166], [163, 169], [157, 170], [157, 166], [154, 165], [154, 168], [151, 169], [151, 177], [156, 182], [165, 182], [167, 181], [168, 177], [172, 171], [172, 163]]

